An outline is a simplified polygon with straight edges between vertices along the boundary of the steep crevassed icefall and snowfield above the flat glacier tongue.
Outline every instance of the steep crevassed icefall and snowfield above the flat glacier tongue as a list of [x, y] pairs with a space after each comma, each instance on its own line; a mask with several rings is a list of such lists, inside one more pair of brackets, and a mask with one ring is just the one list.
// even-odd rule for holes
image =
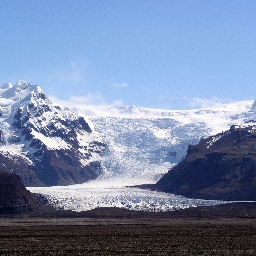
[[[252, 101], [199, 110], [156, 110], [138, 106], [74, 109], [91, 114], [94, 129], [108, 145], [105, 173], [118, 184], [156, 183], [186, 155], [189, 144], [254, 118]], [[256, 118], [255, 118], [256, 119]], [[103, 177], [103, 175], [105, 175]]]

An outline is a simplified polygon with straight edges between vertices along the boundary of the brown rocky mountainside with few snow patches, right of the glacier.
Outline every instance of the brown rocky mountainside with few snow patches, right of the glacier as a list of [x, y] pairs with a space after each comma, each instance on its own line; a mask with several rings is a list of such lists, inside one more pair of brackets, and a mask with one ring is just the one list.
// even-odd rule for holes
[[186, 158], [152, 188], [189, 198], [255, 201], [255, 130], [233, 125], [189, 145]]

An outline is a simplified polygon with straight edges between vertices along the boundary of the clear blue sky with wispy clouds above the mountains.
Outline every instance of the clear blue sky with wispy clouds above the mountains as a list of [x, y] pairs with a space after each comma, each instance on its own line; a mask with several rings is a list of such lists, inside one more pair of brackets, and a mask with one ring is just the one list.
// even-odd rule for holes
[[256, 1], [0, 0], [0, 83], [83, 104], [256, 98]]

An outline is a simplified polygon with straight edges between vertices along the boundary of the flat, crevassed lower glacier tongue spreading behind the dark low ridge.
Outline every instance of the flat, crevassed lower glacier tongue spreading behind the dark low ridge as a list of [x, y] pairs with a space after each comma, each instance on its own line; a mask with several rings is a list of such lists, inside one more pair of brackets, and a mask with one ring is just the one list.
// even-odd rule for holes
[[[173, 211], [197, 206], [226, 204], [230, 201], [189, 199], [179, 195], [130, 187], [68, 187], [28, 188], [42, 196], [58, 210], [87, 211], [99, 207], [119, 207], [137, 211]], [[114, 184], [112, 184], [114, 185]]]

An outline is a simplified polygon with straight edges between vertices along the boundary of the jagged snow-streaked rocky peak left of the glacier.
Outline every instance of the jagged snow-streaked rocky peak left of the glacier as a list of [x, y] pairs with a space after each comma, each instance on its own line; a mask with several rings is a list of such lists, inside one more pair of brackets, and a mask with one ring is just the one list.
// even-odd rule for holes
[[0, 169], [27, 186], [70, 185], [99, 175], [100, 135], [84, 117], [26, 81], [0, 88]]

